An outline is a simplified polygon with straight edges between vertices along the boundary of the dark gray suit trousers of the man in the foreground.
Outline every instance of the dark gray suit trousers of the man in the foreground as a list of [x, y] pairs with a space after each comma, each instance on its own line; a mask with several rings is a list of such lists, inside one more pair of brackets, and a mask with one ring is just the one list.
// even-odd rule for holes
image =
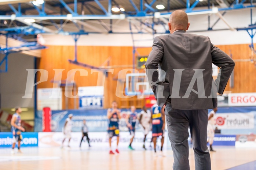
[[211, 158], [207, 147], [208, 109], [178, 110], [166, 104], [165, 115], [168, 136], [171, 141], [173, 170], [189, 170], [189, 131], [193, 140], [195, 170], [211, 170]]

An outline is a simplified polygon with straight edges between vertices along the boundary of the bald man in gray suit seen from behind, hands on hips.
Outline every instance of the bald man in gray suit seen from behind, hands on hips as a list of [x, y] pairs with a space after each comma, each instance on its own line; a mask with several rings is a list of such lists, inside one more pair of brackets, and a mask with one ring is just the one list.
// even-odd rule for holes
[[[195, 169], [211, 170], [207, 141], [208, 109], [217, 107], [217, 93], [223, 94], [234, 69], [234, 61], [213, 46], [209, 37], [189, 34], [184, 11], [174, 11], [169, 19], [169, 35], [154, 38], [145, 64], [147, 78], [159, 106], [165, 107], [174, 170], [189, 170], [190, 128], [195, 153]], [[220, 67], [212, 78], [212, 63]]]

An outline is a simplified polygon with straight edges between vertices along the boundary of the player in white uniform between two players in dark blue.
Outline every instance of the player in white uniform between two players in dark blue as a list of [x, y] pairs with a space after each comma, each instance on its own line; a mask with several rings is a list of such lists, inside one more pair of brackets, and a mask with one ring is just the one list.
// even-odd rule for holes
[[143, 148], [146, 150], [145, 141], [147, 134], [150, 131], [150, 122], [151, 122], [151, 112], [147, 110], [146, 106], [143, 107], [142, 111], [140, 112], [139, 123], [142, 125], [144, 130], [144, 140], [143, 140]]

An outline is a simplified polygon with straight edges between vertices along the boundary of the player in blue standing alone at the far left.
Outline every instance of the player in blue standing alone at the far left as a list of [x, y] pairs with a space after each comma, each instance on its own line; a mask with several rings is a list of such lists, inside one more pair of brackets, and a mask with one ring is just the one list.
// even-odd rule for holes
[[21, 140], [22, 135], [21, 131], [24, 132], [25, 129], [21, 126], [21, 108], [17, 107], [15, 108], [15, 113], [12, 115], [11, 118], [11, 131], [12, 131], [12, 138], [13, 138], [13, 144], [12, 144], [12, 154], [14, 154], [14, 148], [16, 145], [16, 142], [18, 141], [18, 152], [22, 153], [21, 148]]

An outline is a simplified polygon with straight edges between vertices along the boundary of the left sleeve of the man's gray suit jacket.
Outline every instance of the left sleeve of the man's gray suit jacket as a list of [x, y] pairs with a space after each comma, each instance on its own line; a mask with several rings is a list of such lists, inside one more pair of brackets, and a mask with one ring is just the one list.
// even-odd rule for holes
[[149, 85], [152, 88], [154, 95], [156, 95], [156, 86], [154, 82], [158, 82], [158, 64], [162, 62], [164, 55], [164, 47], [160, 38], [155, 37], [153, 41], [153, 47], [145, 63], [146, 74], [149, 81]]

